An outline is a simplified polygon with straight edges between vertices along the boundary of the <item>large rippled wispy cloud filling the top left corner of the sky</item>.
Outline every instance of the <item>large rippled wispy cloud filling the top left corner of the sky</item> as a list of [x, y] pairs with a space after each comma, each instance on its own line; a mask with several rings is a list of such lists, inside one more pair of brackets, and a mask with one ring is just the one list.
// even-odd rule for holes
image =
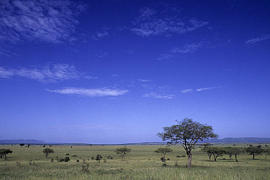
[[[74, 1], [8, 1], [0, 6], [0, 42], [22, 40], [62, 43], [76, 29], [76, 16], [86, 5]], [[74, 38], [73, 38], [74, 41]]]

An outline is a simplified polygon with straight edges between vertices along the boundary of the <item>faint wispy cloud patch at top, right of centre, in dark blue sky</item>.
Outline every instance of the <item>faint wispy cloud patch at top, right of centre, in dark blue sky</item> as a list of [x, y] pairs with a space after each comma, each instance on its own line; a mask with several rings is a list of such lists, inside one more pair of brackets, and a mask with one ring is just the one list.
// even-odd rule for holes
[[183, 21], [179, 18], [179, 12], [174, 11], [174, 9], [171, 9], [170, 13], [174, 14], [168, 16], [164, 14], [163, 10], [158, 11], [143, 7], [139, 10], [139, 15], [136, 21], [133, 22], [135, 27], [131, 28], [131, 31], [142, 37], [170, 33], [183, 34], [208, 24], [208, 22], [196, 19]]

